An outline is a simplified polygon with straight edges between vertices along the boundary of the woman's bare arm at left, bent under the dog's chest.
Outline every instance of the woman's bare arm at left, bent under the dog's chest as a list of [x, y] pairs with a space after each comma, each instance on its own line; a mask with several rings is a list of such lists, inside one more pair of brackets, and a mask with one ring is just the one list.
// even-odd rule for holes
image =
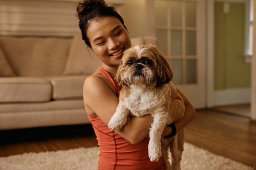
[[[108, 125], [119, 103], [112, 85], [101, 76], [94, 74], [85, 80], [83, 95], [87, 113], [96, 113], [102, 122]], [[126, 124], [116, 133], [132, 144], [137, 144], [148, 135], [152, 122], [151, 115], [143, 117], [128, 116]]]

